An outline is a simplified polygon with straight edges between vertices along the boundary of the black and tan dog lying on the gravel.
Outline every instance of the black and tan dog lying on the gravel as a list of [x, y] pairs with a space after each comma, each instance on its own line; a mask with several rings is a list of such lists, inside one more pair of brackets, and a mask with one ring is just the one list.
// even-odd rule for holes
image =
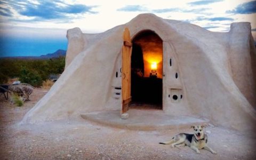
[[204, 134], [203, 127], [206, 125], [191, 126], [194, 129], [194, 134], [179, 133], [175, 135], [172, 140], [167, 142], [160, 142], [162, 145], [172, 144], [172, 148], [177, 145], [189, 146], [191, 149], [195, 150], [197, 154], [200, 154], [199, 149], [205, 149], [210, 151], [212, 154], [217, 154], [216, 151], [212, 150], [207, 146], [207, 135]]

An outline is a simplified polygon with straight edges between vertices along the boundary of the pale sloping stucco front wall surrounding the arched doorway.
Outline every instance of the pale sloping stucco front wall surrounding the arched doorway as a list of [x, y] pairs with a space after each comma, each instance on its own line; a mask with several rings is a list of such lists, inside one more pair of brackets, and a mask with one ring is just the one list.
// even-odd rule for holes
[[[121, 47], [125, 27], [130, 29], [131, 37], [149, 29], [163, 39], [165, 114], [204, 117], [217, 125], [238, 130], [253, 129], [255, 109], [233, 79], [233, 62], [230, 61], [230, 50], [234, 47], [230, 42], [232, 31], [213, 33], [189, 23], [164, 20], [153, 14], [138, 15], [125, 25], [101, 34], [81, 34], [76, 28], [69, 30], [69, 33], [78, 35], [68, 35], [67, 56], [70, 64], [22, 122], [74, 118], [96, 110], [120, 110], [121, 98], [114, 93], [122, 87]], [[74, 52], [78, 52], [75, 50], [77, 42], [79, 50], [83, 46], [82, 52]], [[249, 44], [246, 42], [244, 45]], [[241, 51], [249, 55], [251, 52]], [[172, 67], [167, 65], [170, 58], [173, 60]], [[175, 73], [179, 74], [179, 78], [175, 78]], [[179, 102], [173, 102], [168, 96], [174, 91], [183, 95]]]

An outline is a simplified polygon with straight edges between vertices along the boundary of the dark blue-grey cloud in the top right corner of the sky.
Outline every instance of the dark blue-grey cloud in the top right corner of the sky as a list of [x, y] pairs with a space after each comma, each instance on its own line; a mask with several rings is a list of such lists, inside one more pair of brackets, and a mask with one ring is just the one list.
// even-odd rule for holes
[[238, 14], [256, 13], [256, 1], [239, 4], [234, 10], [229, 10], [226, 13], [238, 13]]

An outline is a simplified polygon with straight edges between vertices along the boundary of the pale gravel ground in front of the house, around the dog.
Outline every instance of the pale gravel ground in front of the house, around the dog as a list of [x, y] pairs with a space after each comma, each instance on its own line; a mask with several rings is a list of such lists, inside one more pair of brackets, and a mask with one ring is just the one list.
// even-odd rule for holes
[[158, 142], [187, 130], [132, 131], [102, 126], [85, 119], [19, 125], [22, 117], [47, 93], [35, 89], [31, 101], [15, 107], [0, 95], [0, 159], [256, 159], [254, 135], [222, 127], [206, 129], [217, 155]]

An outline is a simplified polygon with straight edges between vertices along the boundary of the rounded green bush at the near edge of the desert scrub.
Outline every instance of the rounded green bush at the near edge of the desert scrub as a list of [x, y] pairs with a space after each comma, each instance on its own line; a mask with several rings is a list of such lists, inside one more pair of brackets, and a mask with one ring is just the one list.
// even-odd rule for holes
[[23, 67], [19, 76], [19, 81], [22, 83], [28, 83], [33, 86], [41, 86], [43, 80], [36, 70], [27, 69]]

